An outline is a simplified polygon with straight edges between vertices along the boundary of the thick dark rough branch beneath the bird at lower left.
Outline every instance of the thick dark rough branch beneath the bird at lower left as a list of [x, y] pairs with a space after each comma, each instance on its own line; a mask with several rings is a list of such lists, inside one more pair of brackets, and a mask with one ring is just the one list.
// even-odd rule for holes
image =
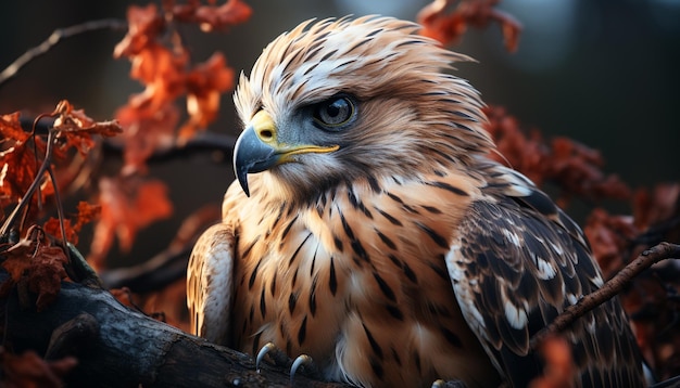
[[[7, 274], [0, 274], [0, 283]], [[70, 386], [101, 387], [285, 387], [286, 371], [263, 365], [254, 371], [243, 353], [209, 344], [133, 311], [110, 293], [63, 283], [58, 300], [45, 311], [22, 310], [16, 293], [2, 300], [5, 346], [34, 349], [49, 358], [73, 355], [78, 365]], [[341, 387], [295, 376], [297, 387]]]

